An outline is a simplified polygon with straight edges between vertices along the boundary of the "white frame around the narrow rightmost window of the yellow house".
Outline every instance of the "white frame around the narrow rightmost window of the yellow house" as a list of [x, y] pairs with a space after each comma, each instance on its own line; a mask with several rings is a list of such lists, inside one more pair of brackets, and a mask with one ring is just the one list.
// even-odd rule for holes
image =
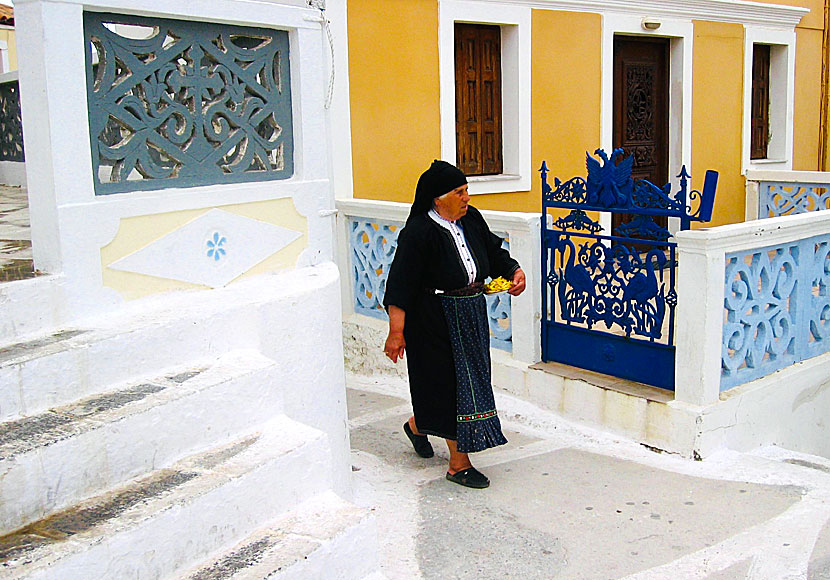
[[[750, 159], [752, 145], [752, 58], [756, 44], [770, 46], [769, 130], [766, 159]], [[742, 171], [793, 167], [795, 103], [795, 31], [747, 26], [744, 34], [744, 110]]]

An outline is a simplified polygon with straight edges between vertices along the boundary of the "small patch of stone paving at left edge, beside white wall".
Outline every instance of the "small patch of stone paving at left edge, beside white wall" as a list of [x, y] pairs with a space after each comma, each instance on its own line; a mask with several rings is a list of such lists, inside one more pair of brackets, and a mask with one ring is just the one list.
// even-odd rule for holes
[[0, 282], [34, 275], [26, 190], [0, 185]]

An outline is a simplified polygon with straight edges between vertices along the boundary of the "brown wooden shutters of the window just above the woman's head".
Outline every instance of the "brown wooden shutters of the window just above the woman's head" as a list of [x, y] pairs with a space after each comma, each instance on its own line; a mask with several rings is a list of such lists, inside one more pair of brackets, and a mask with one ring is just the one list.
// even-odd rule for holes
[[501, 30], [455, 25], [456, 164], [467, 175], [502, 173]]

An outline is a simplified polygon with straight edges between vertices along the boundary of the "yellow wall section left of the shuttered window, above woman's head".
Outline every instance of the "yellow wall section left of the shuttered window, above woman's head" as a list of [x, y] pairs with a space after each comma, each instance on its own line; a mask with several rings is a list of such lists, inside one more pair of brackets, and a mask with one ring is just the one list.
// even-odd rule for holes
[[348, 22], [355, 197], [411, 202], [441, 156], [438, 2], [349, 0]]

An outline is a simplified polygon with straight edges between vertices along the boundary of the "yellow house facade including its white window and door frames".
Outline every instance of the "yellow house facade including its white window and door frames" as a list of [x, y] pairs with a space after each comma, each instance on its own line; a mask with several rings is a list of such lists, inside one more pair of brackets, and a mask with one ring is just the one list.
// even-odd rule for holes
[[[720, 173], [713, 225], [743, 221], [747, 169], [824, 168], [825, 0], [602, 4], [348, 0], [354, 197], [409, 202], [433, 159], [456, 162], [457, 24], [501, 32], [504, 168], [471, 178], [476, 207], [538, 211], [543, 160], [567, 179], [585, 175], [586, 152], [620, 144], [621, 45], [666, 47], [658, 148], [670, 176], [686, 165], [695, 188], [707, 169]], [[758, 47], [768, 54], [769, 118], [767, 153], [756, 159]]]

